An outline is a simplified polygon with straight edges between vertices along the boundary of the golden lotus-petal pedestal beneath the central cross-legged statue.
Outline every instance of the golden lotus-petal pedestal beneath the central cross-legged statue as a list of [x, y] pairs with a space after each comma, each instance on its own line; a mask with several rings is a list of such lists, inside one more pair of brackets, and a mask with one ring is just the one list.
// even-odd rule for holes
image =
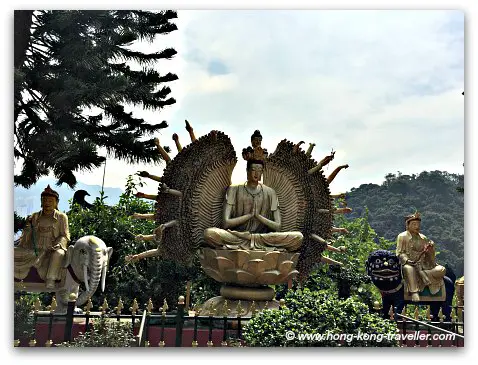
[[202, 248], [199, 260], [203, 270], [223, 286], [221, 296], [204, 303], [201, 313], [224, 316], [227, 307], [229, 317], [247, 317], [253, 310], [278, 308], [269, 285], [293, 279], [299, 273], [295, 269], [298, 258], [298, 252]]

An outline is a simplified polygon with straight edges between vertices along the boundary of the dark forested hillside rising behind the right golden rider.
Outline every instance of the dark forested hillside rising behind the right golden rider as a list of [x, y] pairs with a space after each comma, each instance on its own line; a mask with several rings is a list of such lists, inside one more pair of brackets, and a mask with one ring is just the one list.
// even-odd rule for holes
[[442, 171], [419, 175], [388, 174], [382, 185], [363, 184], [347, 193], [353, 208], [348, 218], [369, 210], [369, 222], [379, 236], [395, 240], [405, 230], [404, 217], [418, 210], [422, 233], [438, 246], [437, 261], [449, 264], [459, 276], [464, 271], [464, 176]]

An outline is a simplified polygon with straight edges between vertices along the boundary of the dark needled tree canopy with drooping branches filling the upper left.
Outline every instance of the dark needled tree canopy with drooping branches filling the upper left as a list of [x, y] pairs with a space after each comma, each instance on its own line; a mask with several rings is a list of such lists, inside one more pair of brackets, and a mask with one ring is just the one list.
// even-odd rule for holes
[[154, 67], [176, 51], [130, 46], [176, 30], [174, 18], [169, 10], [15, 11], [14, 157], [23, 164], [16, 185], [53, 172], [74, 187], [75, 171], [104, 162], [99, 147], [130, 163], [161, 159], [154, 133], [166, 121], [146, 122], [125, 107], [160, 111], [176, 102], [166, 85], [178, 77]]

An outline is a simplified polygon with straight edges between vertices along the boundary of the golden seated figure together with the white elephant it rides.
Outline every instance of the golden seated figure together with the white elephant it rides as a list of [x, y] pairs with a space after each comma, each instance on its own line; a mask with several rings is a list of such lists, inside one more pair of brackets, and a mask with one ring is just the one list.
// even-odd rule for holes
[[41, 194], [42, 209], [27, 218], [14, 247], [15, 289], [29, 292], [56, 292], [56, 312], [66, 310], [71, 293], [78, 294], [77, 306], [91, 297], [99, 283], [105, 286], [112, 248], [95, 236], [84, 236], [68, 246], [68, 217], [58, 211], [59, 196], [48, 186]]

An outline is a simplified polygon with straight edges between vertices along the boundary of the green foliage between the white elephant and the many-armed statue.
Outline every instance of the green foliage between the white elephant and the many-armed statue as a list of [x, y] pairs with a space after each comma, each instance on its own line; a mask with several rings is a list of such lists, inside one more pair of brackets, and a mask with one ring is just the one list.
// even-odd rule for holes
[[121, 298], [125, 308], [137, 299], [144, 308], [151, 298], [155, 308], [166, 299], [174, 308], [180, 295], [184, 295], [186, 282], [195, 277], [197, 267], [185, 267], [161, 258], [148, 258], [137, 263], [126, 263], [125, 257], [154, 248], [152, 242], [135, 240], [138, 234], [151, 234], [155, 222], [133, 219], [133, 213], [153, 213], [153, 204], [134, 196], [141, 180], [128, 178], [125, 193], [117, 205], [107, 206], [103, 198], [97, 198], [91, 210], [72, 207], [68, 213], [72, 241], [85, 235], [95, 235], [113, 247], [106, 279], [105, 293], [98, 290], [93, 296], [93, 305], [100, 306], [106, 297], [111, 306]]

